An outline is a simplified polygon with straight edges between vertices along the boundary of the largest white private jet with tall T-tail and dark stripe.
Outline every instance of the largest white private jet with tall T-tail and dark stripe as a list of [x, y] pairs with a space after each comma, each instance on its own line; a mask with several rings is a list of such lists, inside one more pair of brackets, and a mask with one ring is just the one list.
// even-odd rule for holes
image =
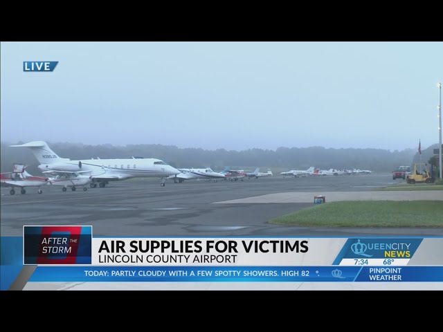
[[179, 174], [179, 170], [167, 165], [165, 162], [154, 158], [132, 157], [123, 159], [88, 159], [71, 160], [60, 158], [52, 151], [46, 142], [28, 142], [23, 145], [11, 147], [26, 147], [30, 149], [39, 161], [42, 171], [89, 171], [91, 188], [105, 187], [109, 181], [120, 181], [138, 177], [160, 177], [161, 186], [165, 185], [165, 178]]

